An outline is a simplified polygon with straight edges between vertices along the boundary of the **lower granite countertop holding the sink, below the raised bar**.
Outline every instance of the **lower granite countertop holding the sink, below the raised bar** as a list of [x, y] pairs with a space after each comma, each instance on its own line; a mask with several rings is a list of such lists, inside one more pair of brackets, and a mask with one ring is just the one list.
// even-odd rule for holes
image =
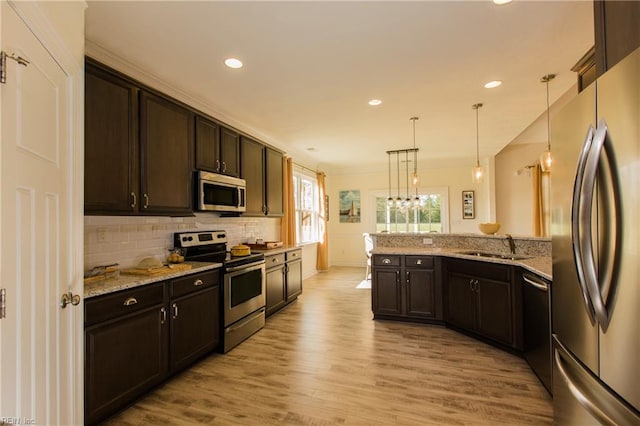
[[[538, 274], [548, 280], [552, 280], [551, 256], [535, 256], [526, 259], [500, 259], [493, 257], [480, 257], [464, 254], [469, 249], [449, 249], [449, 248], [416, 248], [416, 247], [378, 247], [373, 249], [373, 254], [423, 254], [429, 256], [446, 256], [460, 259], [470, 259], [479, 262], [502, 263], [505, 265], [521, 266], [534, 274]], [[505, 253], [507, 254], [507, 253]]]

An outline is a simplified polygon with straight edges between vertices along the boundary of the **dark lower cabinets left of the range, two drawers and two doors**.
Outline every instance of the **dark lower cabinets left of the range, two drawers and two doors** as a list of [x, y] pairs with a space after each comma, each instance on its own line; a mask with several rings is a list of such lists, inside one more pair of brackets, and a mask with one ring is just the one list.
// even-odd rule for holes
[[85, 302], [85, 422], [95, 424], [220, 343], [218, 270]]

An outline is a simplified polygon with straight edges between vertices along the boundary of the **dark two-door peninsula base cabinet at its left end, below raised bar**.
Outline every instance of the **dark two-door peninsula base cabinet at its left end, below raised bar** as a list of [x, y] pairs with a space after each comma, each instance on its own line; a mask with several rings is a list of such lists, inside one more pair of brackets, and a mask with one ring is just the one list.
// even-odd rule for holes
[[436, 259], [420, 255], [374, 255], [374, 318], [442, 320], [441, 286]]

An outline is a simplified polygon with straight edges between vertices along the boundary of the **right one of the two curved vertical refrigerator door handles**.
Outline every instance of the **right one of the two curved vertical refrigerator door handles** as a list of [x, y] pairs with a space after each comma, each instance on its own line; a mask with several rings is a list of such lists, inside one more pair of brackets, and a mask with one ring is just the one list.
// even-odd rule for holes
[[[580, 238], [580, 251], [583, 256], [583, 266], [585, 268], [584, 278], [589, 292], [589, 298], [591, 300], [593, 309], [596, 314], [596, 319], [600, 323], [600, 326], [604, 331], [609, 326], [609, 314], [607, 307], [604, 303], [604, 299], [600, 292], [600, 283], [598, 277], [598, 271], [596, 269], [596, 257], [593, 253], [593, 229], [591, 227], [591, 220], [593, 217], [593, 200], [595, 197], [596, 175], [598, 173], [598, 163], [602, 156], [604, 143], [607, 138], [607, 123], [601, 120], [596, 129], [587, 161], [584, 168], [584, 179], [580, 192], [580, 227], [582, 229], [582, 237]], [[609, 288], [610, 283], [606, 283], [605, 287]]]

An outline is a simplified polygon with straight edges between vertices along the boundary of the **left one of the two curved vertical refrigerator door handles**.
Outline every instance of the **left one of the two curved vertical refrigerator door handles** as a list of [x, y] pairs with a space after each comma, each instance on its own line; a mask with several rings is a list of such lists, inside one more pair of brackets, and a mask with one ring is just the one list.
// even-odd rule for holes
[[[576, 262], [576, 271], [578, 273], [578, 284], [580, 284], [580, 291], [582, 292], [582, 298], [584, 302], [584, 306], [587, 310], [587, 314], [589, 315], [589, 320], [594, 324], [596, 321], [596, 314], [593, 308], [593, 303], [591, 302], [591, 297], [589, 295], [589, 290], [586, 287], [586, 278], [585, 278], [585, 259], [583, 253], [583, 247], [581, 245], [582, 238], [580, 237], [581, 229], [584, 225], [582, 225], [580, 221], [581, 217], [581, 204], [582, 204], [582, 186], [584, 182], [585, 175], [585, 166], [587, 163], [587, 159], [589, 157], [589, 152], [591, 151], [591, 147], [593, 145], [593, 136], [594, 136], [593, 126], [589, 126], [587, 130], [587, 135], [585, 136], [584, 143], [582, 144], [582, 150], [580, 152], [580, 159], [578, 161], [578, 170], [576, 172], [576, 180], [573, 185], [573, 196], [571, 202], [571, 243], [573, 246], [573, 256]], [[591, 220], [589, 218], [589, 220]], [[589, 227], [591, 223], [588, 224]], [[589, 228], [590, 229], [590, 228]]]

